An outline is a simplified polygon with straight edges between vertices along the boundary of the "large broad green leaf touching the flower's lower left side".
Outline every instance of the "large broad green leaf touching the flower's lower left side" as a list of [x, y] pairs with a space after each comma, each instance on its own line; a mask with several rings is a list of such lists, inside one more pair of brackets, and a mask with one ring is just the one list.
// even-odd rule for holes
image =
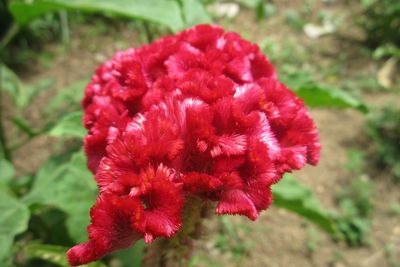
[[86, 228], [90, 222], [89, 210], [97, 196], [93, 175], [86, 167], [82, 151], [71, 160], [59, 164], [48, 161], [39, 171], [31, 192], [25, 196], [27, 204], [44, 204], [64, 211], [70, 236], [77, 242], [86, 240]]

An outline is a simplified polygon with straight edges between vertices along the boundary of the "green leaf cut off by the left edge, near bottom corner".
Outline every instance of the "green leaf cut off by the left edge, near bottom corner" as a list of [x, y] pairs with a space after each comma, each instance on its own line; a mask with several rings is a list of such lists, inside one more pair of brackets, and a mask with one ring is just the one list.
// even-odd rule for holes
[[14, 237], [28, 227], [29, 209], [0, 188], [0, 214], [0, 263], [3, 263], [11, 256]]

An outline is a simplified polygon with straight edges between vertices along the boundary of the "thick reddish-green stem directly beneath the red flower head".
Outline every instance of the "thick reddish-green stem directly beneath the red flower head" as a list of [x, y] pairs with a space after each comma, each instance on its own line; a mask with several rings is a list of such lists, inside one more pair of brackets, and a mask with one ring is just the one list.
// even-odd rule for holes
[[193, 241], [201, 236], [202, 220], [210, 205], [199, 198], [189, 198], [184, 206], [182, 228], [172, 238], [160, 239], [147, 246], [142, 267], [186, 267], [193, 254]]

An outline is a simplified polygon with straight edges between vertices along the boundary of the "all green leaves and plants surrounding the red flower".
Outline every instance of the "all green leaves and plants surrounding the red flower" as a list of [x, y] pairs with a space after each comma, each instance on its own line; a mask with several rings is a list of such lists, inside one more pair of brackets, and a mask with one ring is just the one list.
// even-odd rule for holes
[[[82, 225], [89, 223], [88, 210], [97, 195], [81, 149], [86, 130], [81, 124], [79, 103], [88, 78], [71, 81], [68, 87], [52, 95], [49, 104], [36, 106], [41, 121], [36, 124], [26, 114], [43, 92], [53, 89], [56, 80], [49, 77], [34, 84], [23, 82], [17, 74], [23, 73], [19, 68], [21, 64], [43, 57], [42, 44], [49, 41], [62, 47], [68, 46], [71, 42], [70, 26], [74, 23], [80, 25], [89, 21], [97, 31], [101, 27], [107, 31], [113, 23], [123, 23], [123, 27], [133, 25], [141, 35], [138, 39], [145, 43], [166, 33], [213, 21], [207, 12], [207, 4], [217, 1], [111, 2], [35, 0], [28, 3], [0, 0], [0, 213], [4, 215], [0, 218], [0, 266], [68, 266], [65, 251], [71, 245], [86, 240]], [[277, 12], [273, 1], [238, 2], [253, 8], [259, 20], [268, 19]], [[375, 50], [376, 58], [398, 57], [400, 3], [396, 0], [362, 2], [365, 17], [361, 25], [367, 33], [368, 45], [378, 48]], [[300, 31], [307, 22], [304, 17], [309, 13], [306, 5], [300, 13], [288, 11], [286, 23]], [[99, 32], [95, 34], [101, 35]], [[277, 43], [265, 39], [260, 42], [260, 47], [274, 64], [281, 67], [281, 79], [308, 106], [368, 112], [365, 103], [349, 92], [352, 90], [346, 90], [355, 86], [350, 84], [354, 79], [332, 82], [329, 77], [341, 73], [340, 68], [332, 70], [333, 75], [332, 72], [322, 73], [320, 66], [301, 64], [310, 59], [310, 52], [295, 40], [287, 40]], [[68, 53], [68, 49], [63, 51]], [[86, 75], [89, 77], [90, 73]], [[374, 78], [368, 78], [375, 82]], [[365, 81], [363, 79], [360, 83]], [[376, 82], [372, 87], [375, 85]], [[12, 108], [4, 105], [8, 100], [12, 103], [8, 106]], [[14, 129], [12, 134], [10, 127]], [[374, 142], [373, 155], [379, 167], [390, 170], [400, 181], [400, 110], [386, 108], [382, 113], [372, 114], [368, 134]], [[54, 138], [59, 144], [52, 148], [52, 156], [33, 173], [18, 170], [13, 159], [15, 151], [44, 136]], [[350, 160], [346, 168], [354, 179], [343, 185], [344, 189], [336, 197], [337, 214], [319, 203], [314, 189], [289, 175], [273, 187], [274, 205], [301, 216], [330, 237], [345, 240], [350, 246], [367, 244], [374, 212], [374, 185], [365, 175], [364, 158], [365, 152], [349, 152]], [[397, 203], [393, 203], [392, 210], [394, 216], [398, 216]], [[238, 234], [246, 232], [245, 227], [234, 225], [227, 218], [221, 219], [219, 225], [215, 247], [231, 252], [240, 263], [252, 247], [251, 241], [241, 237], [245, 234]], [[306, 242], [309, 251], [318, 249], [316, 242], [319, 238], [314, 233]], [[104, 267], [110, 266], [110, 263], [123, 267], [139, 265], [143, 248], [144, 244], [138, 243], [134, 248], [115, 253], [90, 266]], [[210, 264], [204, 257], [192, 260], [192, 266], [201, 263]]]

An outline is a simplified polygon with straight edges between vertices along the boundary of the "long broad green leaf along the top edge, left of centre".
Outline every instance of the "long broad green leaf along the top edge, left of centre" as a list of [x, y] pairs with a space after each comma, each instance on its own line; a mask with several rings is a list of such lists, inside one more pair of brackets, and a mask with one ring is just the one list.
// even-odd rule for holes
[[12, 1], [9, 10], [19, 25], [60, 9], [100, 12], [159, 23], [178, 31], [184, 28], [179, 4], [171, 0], [32, 0]]

